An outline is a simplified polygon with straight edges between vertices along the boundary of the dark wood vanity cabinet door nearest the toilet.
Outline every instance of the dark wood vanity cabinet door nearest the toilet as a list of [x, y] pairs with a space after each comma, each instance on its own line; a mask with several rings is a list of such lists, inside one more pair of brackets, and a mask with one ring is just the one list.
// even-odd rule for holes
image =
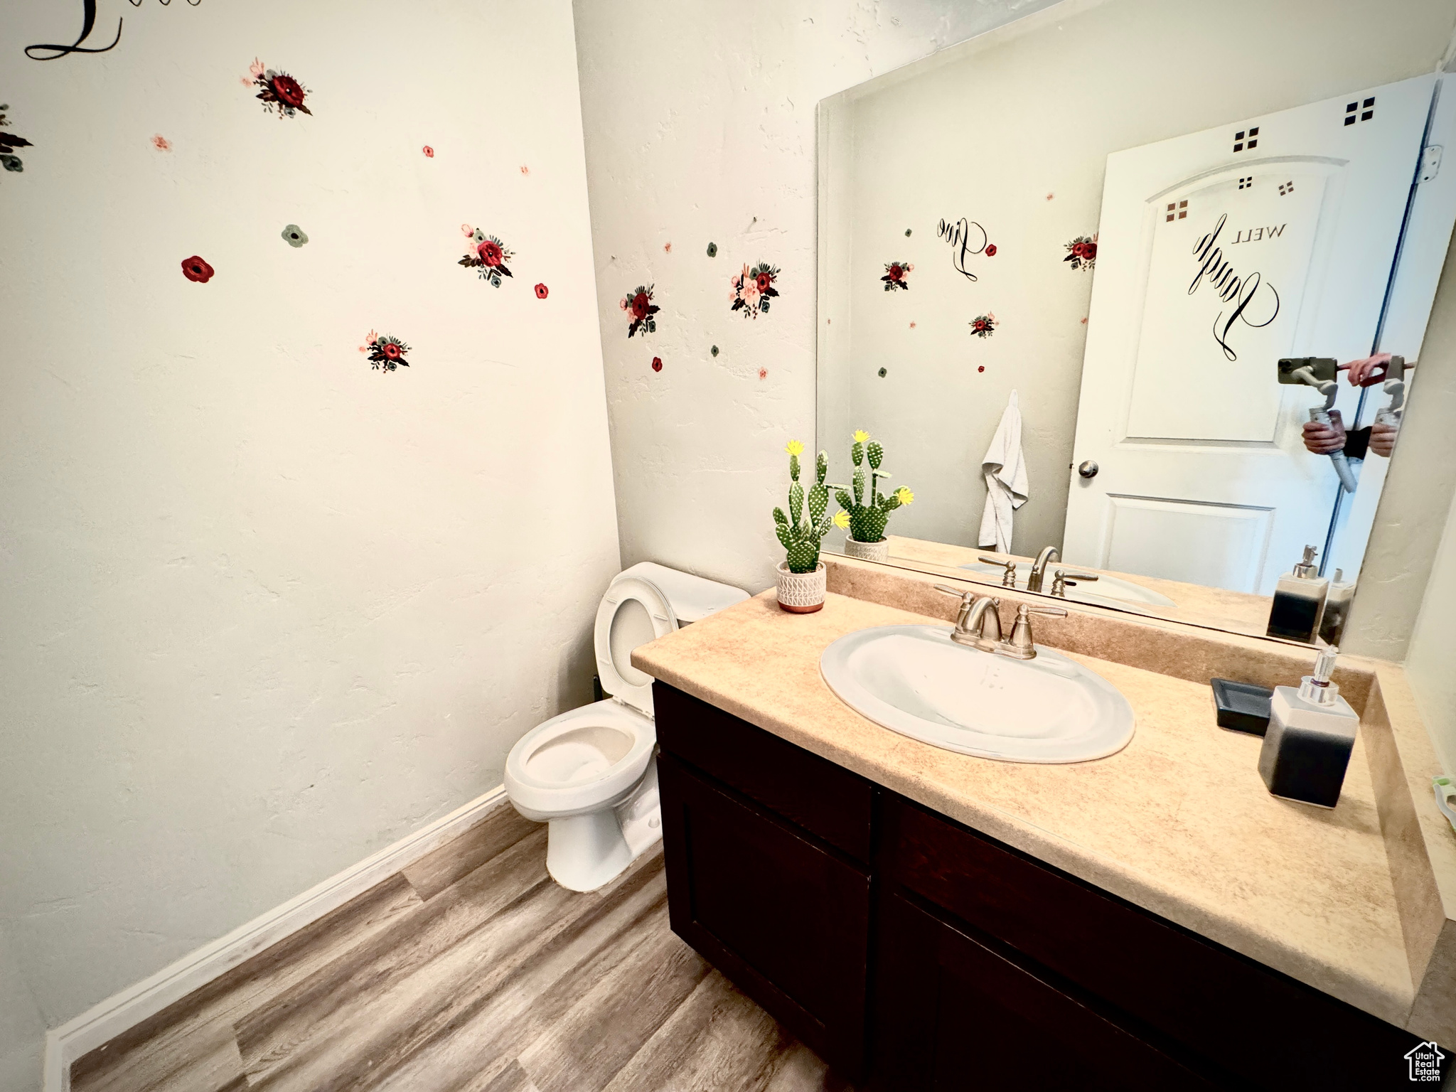
[[664, 751], [673, 932], [853, 1080], [865, 1060], [869, 874]]

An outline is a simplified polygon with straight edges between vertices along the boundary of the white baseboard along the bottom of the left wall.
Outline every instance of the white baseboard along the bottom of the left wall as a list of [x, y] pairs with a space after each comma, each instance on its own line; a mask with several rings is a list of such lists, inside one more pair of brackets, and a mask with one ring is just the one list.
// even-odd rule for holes
[[395, 844], [351, 865], [301, 895], [259, 914], [227, 936], [183, 955], [150, 978], [112, 994], [60, 1028], [52, 1028], [45, 1034], [45, 1092], [70, 1092], [70, 1070], [76, 1059], [96, 1050], [103, 1042], [109, 1042], [121, 1032], [141, 1024], [149, 1016], [154, 1016], [243, 960], [317, 922], [354, 895], [368, 891], [374, 884], [419, 860], [425, 853], [464, 833], [486, 811], [504, 801], [504, 785], [476, 796], [464, 807], [437, 818], [414, 834], [406, 834]]

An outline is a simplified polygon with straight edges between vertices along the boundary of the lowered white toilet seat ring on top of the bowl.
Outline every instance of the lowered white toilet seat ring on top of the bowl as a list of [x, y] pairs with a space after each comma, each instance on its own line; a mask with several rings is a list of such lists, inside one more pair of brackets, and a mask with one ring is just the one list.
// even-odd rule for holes
[[642, 780], [657, 731], [651, 716], [607, 699], [537, 725], [505, 757], [505, 789], [537, 823], [612, 808]]

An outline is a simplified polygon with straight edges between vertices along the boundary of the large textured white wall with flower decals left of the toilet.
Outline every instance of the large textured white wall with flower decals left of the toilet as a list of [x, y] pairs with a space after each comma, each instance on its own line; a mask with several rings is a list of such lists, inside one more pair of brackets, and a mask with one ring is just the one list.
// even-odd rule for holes
[[44, 63], [80, 4], [0, 12], [7, 1091], [39, 1024], [498, 785], [619, 566], [568, 0], [100, 9]]

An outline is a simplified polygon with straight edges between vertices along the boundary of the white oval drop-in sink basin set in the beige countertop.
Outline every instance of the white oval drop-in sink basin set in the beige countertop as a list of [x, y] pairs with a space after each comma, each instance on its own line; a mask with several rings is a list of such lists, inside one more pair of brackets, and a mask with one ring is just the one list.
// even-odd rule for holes
[[1088, 761], [1133, 738], [1121, 692], [1041, 645], [1012, 660], [955, 644], [948, 626], [875, 626], [826, 648], [820, 671], [875, 724], [981, 759]]

